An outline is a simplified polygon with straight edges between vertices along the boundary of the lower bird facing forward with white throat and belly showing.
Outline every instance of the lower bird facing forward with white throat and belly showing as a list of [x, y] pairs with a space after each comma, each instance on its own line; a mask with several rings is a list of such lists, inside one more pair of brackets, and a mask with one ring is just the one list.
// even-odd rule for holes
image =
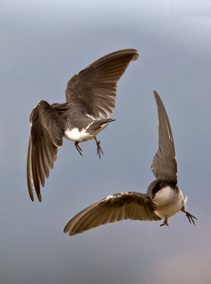
[[173, 136], [164, 104], [154, 91], [159, 119], [159, 150], [154, 155], [151, 169], [156, 177], [148, 187], [147, 194], [120, 192], [76, 214], [64, 227], [70, 236], [101, 226], [103, 224], [131, 219], [141, 221], [164, 220], [160, 226], [169, 226], [169, 217], [181, 211], [191, 224], [193, 215], [186, 212], [186, 199], [177, 186], [177, 163]]

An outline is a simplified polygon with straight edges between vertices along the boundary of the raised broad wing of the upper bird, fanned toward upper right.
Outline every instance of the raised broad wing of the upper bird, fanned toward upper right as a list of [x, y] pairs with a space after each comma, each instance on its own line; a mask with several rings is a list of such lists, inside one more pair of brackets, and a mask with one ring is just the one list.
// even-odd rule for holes
[[125, 49], [96, 60], [69, 80], [66, 102], [78, 105], [95, 119], [108, 119], [115, 109], [117, 82], [130, 61], [138, 57], [137, 50]]

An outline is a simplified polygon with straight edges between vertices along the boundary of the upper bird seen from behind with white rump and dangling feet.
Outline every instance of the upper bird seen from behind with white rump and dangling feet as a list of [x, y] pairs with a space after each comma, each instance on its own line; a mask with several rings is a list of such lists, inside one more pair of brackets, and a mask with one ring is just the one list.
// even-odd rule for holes
[[130, 61], [138, 57], [135, 49], [105, 55], [69, 80], [65, 103], [48, 104], [42, 100], [33, 109], [27, 158], [28, 192], [32, 201], [33, 185], [38, 200], [42, 201], [40, 183], [44, 187], [64, 137], [75, 141], [80, 155], [79, 143], [94, 139], [101, 158], [103, 151], [96, 135], [115, 120], [109, 117], [115, 109], [117, 82]]

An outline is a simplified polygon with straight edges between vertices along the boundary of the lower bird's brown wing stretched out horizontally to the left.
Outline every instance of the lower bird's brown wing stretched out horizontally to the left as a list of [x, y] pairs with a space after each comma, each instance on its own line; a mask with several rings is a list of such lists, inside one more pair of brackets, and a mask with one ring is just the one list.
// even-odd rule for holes
[[65, 226], [64, 233], [70, 236], [83, 231], [121, 220], [161, 220], [155, 213], [154, 202], [139, 192], [121, 192], [109, 195], [103, 200], [76, 214]]

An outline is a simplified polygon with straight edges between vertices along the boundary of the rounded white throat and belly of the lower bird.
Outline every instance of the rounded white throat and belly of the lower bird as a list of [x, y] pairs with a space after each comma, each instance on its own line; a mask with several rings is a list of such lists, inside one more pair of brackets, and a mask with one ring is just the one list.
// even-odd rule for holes
[[181, 211], [185, 204], [183, 192], [173, 190], [169, 186], [157, 192], [153, 202], [156, 204], [156, 214], [161, 218], [173, 216]]

